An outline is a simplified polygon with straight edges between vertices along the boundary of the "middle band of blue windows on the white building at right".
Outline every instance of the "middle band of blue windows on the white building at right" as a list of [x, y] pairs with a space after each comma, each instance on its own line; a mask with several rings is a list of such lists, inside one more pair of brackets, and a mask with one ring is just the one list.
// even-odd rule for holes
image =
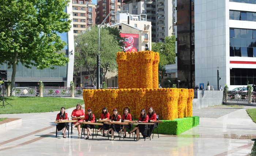
[[256, 30], [229, 29], [229, 56], [256, 57]]

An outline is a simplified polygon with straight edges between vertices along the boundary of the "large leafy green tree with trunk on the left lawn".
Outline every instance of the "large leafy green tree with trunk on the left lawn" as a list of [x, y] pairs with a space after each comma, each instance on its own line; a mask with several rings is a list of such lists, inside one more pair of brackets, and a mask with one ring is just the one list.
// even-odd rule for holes
[[54, 69], [68, 63], [69, 59], [58, 52], [67, 44], [59, 33], [71, 28], [72, 21], [64, 12], [68, 4], [68, 0], [0, 1], [0, 63], [12, 68], [11, 95], [15, 95], [19, 62], [30, 69]]

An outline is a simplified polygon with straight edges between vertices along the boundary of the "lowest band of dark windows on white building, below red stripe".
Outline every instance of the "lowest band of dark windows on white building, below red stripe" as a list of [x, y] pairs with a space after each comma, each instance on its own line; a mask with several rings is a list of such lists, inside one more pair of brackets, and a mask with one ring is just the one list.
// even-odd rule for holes
[[[256, 83], [256, 69], [232, 68], [230, 70], [230, 85], [246, 85]], [[245, 87], [246, 87], [245, 86]]]

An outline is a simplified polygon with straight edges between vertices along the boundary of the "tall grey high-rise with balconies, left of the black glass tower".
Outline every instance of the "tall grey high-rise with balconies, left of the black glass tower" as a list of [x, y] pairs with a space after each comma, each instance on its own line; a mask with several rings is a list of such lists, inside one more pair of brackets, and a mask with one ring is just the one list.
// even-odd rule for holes
[[124, 0], [121, 10], [132, 15], [146, 14], [152, 25], [152, 42], [164, 42], [166, 36], [175, 34], [176, 0]]

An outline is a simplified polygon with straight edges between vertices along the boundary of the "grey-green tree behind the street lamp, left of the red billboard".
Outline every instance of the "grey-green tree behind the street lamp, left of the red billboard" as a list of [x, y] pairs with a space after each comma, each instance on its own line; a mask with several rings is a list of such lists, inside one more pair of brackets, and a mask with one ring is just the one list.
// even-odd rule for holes
[[92, 27], [84, 33], [75, 37], [78, 43], [75, 52], [75, 66], [82, 66], [89, 70], [91, 81], [95, 83], [95, 74], [97, 72], [97, 55], [100, 54], [101, 67], [103, 68], [103, 82], [107, 71], [113, 72], [117, 69], [116, 53], [121, 51], [115, 36], [109, 34], [107, 29], [101, 28], [100, 31], [100, 52], [98, 52], [98, 27]]

